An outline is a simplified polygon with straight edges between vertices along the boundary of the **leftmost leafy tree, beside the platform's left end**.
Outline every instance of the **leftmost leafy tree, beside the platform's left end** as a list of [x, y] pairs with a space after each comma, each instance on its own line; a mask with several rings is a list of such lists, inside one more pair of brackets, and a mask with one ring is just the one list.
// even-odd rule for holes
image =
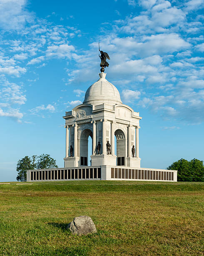
[[31, 158], [29, 156], [25, 156], [21, 160], [18, 160], [17, 167], [16, 167], [16, 171], [18, 173], [16, 177], [17, 181], [20, 180], [22, 173], [24, 173], [24, 177], [26, 179], [27, 177], [26, 170], [35, 169], [35, 159], [36, 159], [36, 156], [32, 156]]

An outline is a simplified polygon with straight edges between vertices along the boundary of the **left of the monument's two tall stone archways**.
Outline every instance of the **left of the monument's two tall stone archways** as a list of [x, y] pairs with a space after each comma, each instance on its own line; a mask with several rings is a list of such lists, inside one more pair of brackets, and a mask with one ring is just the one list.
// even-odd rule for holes
[[93, 138], [93, 133], [89, 128], [85, 128], [80, 133], [80, 166], [88, 166], [88, 139]]

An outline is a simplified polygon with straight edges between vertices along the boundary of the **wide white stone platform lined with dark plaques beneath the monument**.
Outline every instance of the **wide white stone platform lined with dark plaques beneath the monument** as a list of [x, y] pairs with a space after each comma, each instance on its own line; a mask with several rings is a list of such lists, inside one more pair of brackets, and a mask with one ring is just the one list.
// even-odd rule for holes
[[27, 182], [59, 180], [139, 180], [177, 182], [177, 171], [108, 165], [27, 170]]

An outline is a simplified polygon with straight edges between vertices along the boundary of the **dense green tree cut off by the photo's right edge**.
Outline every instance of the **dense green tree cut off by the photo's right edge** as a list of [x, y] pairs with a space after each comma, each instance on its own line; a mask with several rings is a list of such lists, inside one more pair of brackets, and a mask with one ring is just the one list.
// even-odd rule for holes
[[191, 161], [189, 161], [189, 167], [192, 173], [192, 181], [203, 182], [204, 181], [203, 161], [200, 161], [194, 158]]

